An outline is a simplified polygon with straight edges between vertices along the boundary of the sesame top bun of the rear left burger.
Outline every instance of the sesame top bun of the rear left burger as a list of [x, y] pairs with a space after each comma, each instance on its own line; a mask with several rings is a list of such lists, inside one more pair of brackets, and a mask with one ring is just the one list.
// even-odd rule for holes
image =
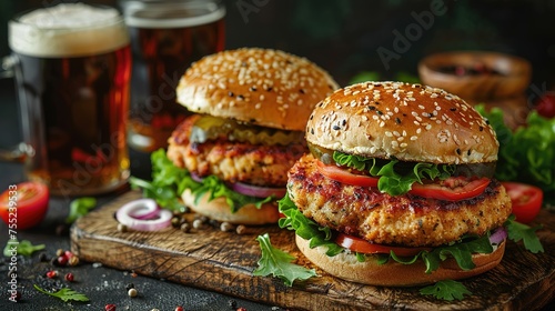
[[337, 88], [327, 72], [304, 58], [243, 48], [193, 63], [176, 93], [191, 112], [304, 131], [314, 106]]

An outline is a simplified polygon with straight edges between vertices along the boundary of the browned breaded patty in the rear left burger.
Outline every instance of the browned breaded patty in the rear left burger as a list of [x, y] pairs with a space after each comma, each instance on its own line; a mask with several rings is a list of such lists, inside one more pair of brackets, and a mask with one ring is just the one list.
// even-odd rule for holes
[[307, 152], [304, 142], [264, 146], [218, 139], [192, 143], [189, 137], [198, 118], [188, 118], [173, 131], [167, 154], [176, 167], [200, 177], [214, 174], [229, 182], [285, 187], [287, 171]]

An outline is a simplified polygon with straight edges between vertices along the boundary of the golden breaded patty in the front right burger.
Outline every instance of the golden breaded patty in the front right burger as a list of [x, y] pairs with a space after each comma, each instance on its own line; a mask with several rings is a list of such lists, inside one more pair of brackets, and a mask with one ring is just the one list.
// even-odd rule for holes
[[383, 244], [441, 245], [464, 234], [482, 235], [511, 214], [511, 199], [492, 180], [484, 193], [458, 202], [346, 185], [322, 175], [304, 156], [290, 170], [287, 190], [300, 211], [323, 227]]

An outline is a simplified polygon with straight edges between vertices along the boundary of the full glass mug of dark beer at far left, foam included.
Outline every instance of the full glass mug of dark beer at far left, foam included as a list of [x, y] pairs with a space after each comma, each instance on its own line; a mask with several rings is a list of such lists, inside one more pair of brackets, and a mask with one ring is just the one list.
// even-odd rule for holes
[[131, 48], [119, 11], [65, 3], [26, 12], [9, 21], [9, 47], [27, 178], [63, 197], [124, 184]]

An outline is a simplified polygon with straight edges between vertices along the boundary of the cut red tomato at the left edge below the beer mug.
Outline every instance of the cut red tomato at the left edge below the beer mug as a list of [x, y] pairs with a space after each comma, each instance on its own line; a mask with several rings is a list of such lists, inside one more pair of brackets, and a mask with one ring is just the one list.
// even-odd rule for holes
[[42, 221], [48, 210], [48, 187], [39, 182], [11, 184], [0, 194], [0, 217], [10, 229], [24, 230]]

